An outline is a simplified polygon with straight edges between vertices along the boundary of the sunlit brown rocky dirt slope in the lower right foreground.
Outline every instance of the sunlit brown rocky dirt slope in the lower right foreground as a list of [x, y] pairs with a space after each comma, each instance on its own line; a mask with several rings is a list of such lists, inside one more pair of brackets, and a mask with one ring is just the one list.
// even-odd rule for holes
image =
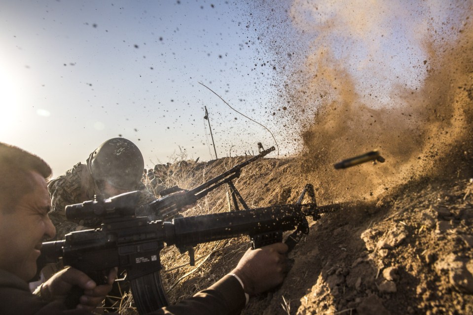
[[472, 187], [415, 183], [324, 215], [261, 314], [471, 314]]

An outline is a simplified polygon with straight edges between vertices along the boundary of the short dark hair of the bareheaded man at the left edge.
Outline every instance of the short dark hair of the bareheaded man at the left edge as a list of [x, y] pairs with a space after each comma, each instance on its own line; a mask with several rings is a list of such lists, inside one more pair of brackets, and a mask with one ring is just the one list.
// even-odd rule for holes
[[51, 168], [40, 157], [0, 142], [0, 210], [13, 211], [18, 200], [35, 189], [31, 172], [47, 179]]

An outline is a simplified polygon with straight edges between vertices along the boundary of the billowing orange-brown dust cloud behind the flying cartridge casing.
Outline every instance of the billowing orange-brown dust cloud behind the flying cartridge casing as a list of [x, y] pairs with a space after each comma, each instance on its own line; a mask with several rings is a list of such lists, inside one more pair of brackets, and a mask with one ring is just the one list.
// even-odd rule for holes
[[[471, 1], [267, 8], [267, 30], [292, 28], [280, 37], [287, 44], [272, 45], [287, 77], [281, 124], [292, 126], [301, 172], [313, 173], [323, 193], [375, 198], [409, 179], [459, 173], [451, 165], [471, 159], [472, 8]], [[333, 169], [373, 149], [385, 163]]]

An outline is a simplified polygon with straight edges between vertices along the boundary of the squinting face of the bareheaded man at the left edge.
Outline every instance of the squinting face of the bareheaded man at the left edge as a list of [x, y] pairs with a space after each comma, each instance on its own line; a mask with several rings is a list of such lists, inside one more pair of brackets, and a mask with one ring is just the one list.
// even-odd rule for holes
[[0, 269], [28, 281], [36, 274], [43, 240], [56, 229], [48, 217], [51, 200], [46, 180], [31, 173], [33, 191], [18, 200], [15, 209], [0, 209]]

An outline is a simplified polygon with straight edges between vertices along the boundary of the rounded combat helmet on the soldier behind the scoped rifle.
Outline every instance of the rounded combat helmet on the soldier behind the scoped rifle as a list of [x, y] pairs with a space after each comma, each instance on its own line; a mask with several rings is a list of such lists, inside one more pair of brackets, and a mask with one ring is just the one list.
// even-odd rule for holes
[[143, 176], [145, 161], [135, 143], [113, 138], [90, 153], [87, 167], [96, 182], [104, 180], [113, 187], [134, 190]]

